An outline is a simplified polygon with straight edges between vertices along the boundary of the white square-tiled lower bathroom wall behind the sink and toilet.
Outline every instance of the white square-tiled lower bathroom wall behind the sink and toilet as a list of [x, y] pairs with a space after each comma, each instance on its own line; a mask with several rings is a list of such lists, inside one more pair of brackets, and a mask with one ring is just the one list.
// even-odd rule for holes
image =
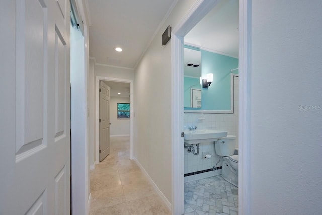
[[[236, 135], [236, 147], [238, 147], [238, 95], [239, 95], [239, 81], [238, 78], [234, 79], [234, 113], [185, 113], [184, 114], [184, 130], [188, 127], [197, 126], [198, 129], [215, 129], [224, 130], [228, 134]], [[219, 161], [219, 156], [215, 153], [214, 142], [199, 145], [199, 155], [195, 156], [188, 153], [184, 148], [184, 173], [191, 173], [200, 170], [210, 169]], [[196, 150], [196, 146], [195, 146]], [[212, 157], [210, 159], [202, 159], [202, 152], [210, 152]], [[222, 159], [221, 159], [222, 160]], [[217, 165], [221, 166], [222, 161]], [[186, 176], [185, 182], [202, 179], [214, 175], [221, 174], [221, 170], [201, 173], [192, 176]]]

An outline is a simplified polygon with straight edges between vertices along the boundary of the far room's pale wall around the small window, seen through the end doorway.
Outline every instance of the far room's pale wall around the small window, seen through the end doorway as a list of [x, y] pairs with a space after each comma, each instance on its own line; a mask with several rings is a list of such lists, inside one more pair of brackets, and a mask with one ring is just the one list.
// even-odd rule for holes
[[117, 118], [117, 103], [130, 103], [130, 97], [110, 97], [110, 136], [129, 136], [130, 119]]

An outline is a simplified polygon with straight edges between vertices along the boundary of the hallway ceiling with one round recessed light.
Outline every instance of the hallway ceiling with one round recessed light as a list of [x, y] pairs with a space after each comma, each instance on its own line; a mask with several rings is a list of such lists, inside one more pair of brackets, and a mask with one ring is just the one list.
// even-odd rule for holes
[[[87, 2], [90, 57], [94, 57], [96, 63], [134, 68], [177, 0]], [[122, 52], [115, 51], [118, 46]]]

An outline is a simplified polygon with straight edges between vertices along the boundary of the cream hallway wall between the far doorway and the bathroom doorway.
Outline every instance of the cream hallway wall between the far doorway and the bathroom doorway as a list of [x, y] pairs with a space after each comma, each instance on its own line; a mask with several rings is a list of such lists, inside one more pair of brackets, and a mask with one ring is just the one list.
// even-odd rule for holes
[[168, 25], [175, 28], [195, 1], [179, 1], [135, 70], [134, 157], [171, 202], [171, 42], [162, 46]]

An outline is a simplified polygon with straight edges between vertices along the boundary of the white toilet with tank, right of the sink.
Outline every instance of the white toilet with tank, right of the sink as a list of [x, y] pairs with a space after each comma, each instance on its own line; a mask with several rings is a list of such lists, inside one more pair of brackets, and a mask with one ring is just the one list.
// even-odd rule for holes
[[238, 161], [239, 156], [235, 153], [236, 136], [227, 135], [215, 141], [216, 154], [223, 156], [222, 178], [238, 187]]

